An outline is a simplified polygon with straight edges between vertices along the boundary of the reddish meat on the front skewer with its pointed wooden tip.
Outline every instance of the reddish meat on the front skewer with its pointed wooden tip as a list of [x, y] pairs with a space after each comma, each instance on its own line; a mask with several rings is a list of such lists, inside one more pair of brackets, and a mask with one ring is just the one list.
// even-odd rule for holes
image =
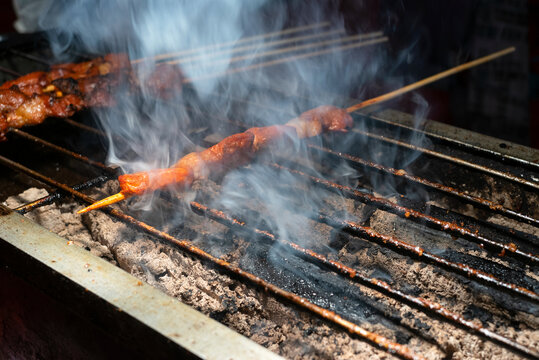
[[188, 188], [195, 180], [249, 163], [256, 154], [286, 138], [303, 139], [325, 132], [345, 132], [352, 123], [352, 117], [346, 110], [324, 105], [304, 112], [285, 125], [254, 127], [226, 137], [208, 149], [187, 154], [170, 168], [121, 175], [118, 177], [121, 188], [118, 194], [98, 201], [79, 213], [170, 185]]

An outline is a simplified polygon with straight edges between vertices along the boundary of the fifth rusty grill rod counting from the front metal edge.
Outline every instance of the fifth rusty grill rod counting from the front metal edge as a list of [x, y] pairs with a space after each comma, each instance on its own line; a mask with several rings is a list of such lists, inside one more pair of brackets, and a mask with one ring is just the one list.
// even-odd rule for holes
[[467, 201], [469, 203], [480, 206], [482, 208], [489, 209], [489, 210], [491, 210], [491, 211], [493, 211], [493, 212], [495, 212], [497, 214], [506, 216], [508, 218], [519, 220], [519, 221], [525, 222], [525, 223], [530, 224], [530, 225], [539, 226], [539, 219], [535, 219], [535, 218], [533, 218], [533, 217], [531, 217], [529, 215], [525, 215], [525, 214], [519, 213], [519, 212], [517, 212], [515, 210], [508, 209], [508, 208], [506, 208], [506, 207], [504, 207], [504, 206], [502, 206], [500, 204], [494, 203], [491, 200], [487, 200], [487, 199], [480, 198], [478, 196], [473, 196], [473, 195], [467, 194], [464, 191], [452, 188], [450, 186], [446, 186], [446, 185], [443, 185], [443, 184], [440, 184], [440, 183], [436, 183], [434, 181], [430, 181], [428, 179], [421, 178], [419, 176], [410, 175], [405, 170], [402, 170], [402, 169], [397, 170], [397, 169], [394, 169], [394, 168], [389, 167], [389, 166], [384, 166], [384, 165], [381, 165], [381, 164], [374, 163], [372, 161], [362, 159], [362, 158], [360, 158], [358, 156], [353, 156], [353, 155], [350, 155], [350, 154], [337, 152], [337, 151], [328, 149], [326, 147], [319, 146], [319, 145], [312, 144], [312, 143], [308, 144], [307, 146], [309, 148], [311, 148], [311, 149], [315, 149], [317, 151], [320, 151], [320, 152], [323, 152], [323, 153], [326, 153], [326, 154], [330, 154], [332, 156], [335, 156], [335, 157], [338, 157], [338, 158], [341, 158], [341, 159], [345, 159], [345, 160], [348, 160], [350, 162], [354, 162], [354, 163], [357, 163], [357, 164], [360, 164], [360, 165], [363, 165], [363, 166], [378, 170], [380, 172], [384, 172], [384, 173], [387, 173], [387, 174], [390, 174], [390, 175], [393, 175], [393, 176], [397, 176], [397, 177], [403, 178], [403, 179], [405, 179], [407, 181], [415, 182], [415, 183], [421, 184], [423, 186], [429, 187], [431, 189], [438, 190], [438, 191], [444, 192], [446, 194], [461, 198], [461, 199], [463, 199], [463, 200], [465, 200], [465, 201]]

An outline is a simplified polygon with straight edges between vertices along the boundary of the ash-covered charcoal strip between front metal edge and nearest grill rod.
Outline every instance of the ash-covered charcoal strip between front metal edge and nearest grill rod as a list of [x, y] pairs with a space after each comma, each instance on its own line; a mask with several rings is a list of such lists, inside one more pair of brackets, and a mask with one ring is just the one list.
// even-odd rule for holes
[[[45, 190], [32, 188], [10, 197], [6, 204], [14, 208], [44, 195]], [[340, 329], [104, 213], [73, 215], [80, 207], [77, 203], [54, 204], [25, 216], [286, 358], [352, 359], [358, 354], [387, 358], [384, 352]], [[208, 225], [222, 227], [190, 216], [194, 225], [191, 229], [186, 226], [185, 234], [207, 231]]]

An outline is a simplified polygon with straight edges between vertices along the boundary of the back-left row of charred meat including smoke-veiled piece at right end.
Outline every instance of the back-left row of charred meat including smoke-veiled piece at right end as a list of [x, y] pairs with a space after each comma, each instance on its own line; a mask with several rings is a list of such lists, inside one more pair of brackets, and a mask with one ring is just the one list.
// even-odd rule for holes
[[[152, 95], [169, 98], [181, 89], [178, 68], [159, 64], [152, 71], [137, 72]], [[109, 54], [91, 61], [52, 66], [0, 86], [0, 140], [9, 128], [36, 125], [47, 117], [68, 117], [89, 107], [113, 106], [122, 86], [140, 87], [127, 55]]]

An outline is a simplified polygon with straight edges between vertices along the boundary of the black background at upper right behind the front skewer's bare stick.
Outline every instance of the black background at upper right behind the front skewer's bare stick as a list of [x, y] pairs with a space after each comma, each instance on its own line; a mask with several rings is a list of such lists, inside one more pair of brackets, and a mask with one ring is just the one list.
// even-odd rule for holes
[[[1, 2], [0, 33], [14, 32], [11, 1]], [[429, 103], [430, 119], [539, 148], [539, 0], [318, 2], [337, 7], [351, 32], [383, 29], [390, 38], [398, 65], [387, 69], [387, 79], [362, 89], [363, 98], [393, 90], [391, 79], [410, 83], [515, 46], [512, 55], [418, 92]], [[301, 8], [301, 1], [291, 3]], [[391, 107], [411, 112], [411, 99]]]

